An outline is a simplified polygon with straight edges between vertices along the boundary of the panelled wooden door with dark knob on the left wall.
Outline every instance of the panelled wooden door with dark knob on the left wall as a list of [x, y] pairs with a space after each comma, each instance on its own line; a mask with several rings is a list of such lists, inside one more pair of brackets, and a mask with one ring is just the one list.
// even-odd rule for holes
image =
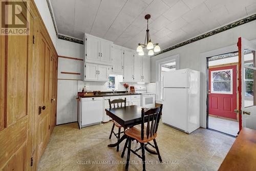
[[51, 49], [45, 38], [46, 33], [41, 30], [38, 48], [38, 90], [37, 90], [37, 155], [38, 159], [44, 152], [49, 141], [50, 114], [51, 114]]

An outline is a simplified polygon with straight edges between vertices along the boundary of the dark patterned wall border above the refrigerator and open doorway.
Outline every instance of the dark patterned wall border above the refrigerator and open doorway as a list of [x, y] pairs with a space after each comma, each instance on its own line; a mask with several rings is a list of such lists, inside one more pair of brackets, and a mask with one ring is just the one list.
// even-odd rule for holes
[[[215, 30], [213, 30], [213, 31], [210, 31], [210, 32], [207, 32], [207, 33], [205, 33], [205, 34], [199, 35], [199, 36], [197, 36], [197, 37], [191, 38], [191, 39], [189, 39], [189, 40], [183, 41], [183, 42], [181, 42], [180, 44], [177, 44], [177, 45], [175, 45], [175, 46], [172, 46], [172, 47], [169, 47], [169, 48], [167, 48], [167, 49], [164, 49], [164, 50], [160, 51], [159, 53], [157, 53], [156, 55], [153, 55], [153, 56], [160, 55], [160, 54], [162, 54], [162, 53], [165, 53], [165, 52], [168, 52], [168, 51], [177, 49], [177, 48], [179, 48], [179, 47], [182, 47], [182, 46], [191, 44], [192, 42], [201, 40], [201, 39], [203, 39], [203, 38], [206, 38], [206, 37], [209, 37], [209, 36], [212, 36], [212, 35], [221, 33], [221, 32], [223, 32], [223, 31], [232, 29], [232, 28], [234, 28], [234, 27], [241, 26], [241, 25], [243, 25], [243, 24], [252, 22], [252, 21], [255, 20], [255, 19], [256, 19], [256, 14], [251, 15], [251, 16], [248, 16], [248, 17], [246, 17], [246, 18], [243, 18], [243, 19], [238, 20], [237, 22], [231, 23], [231, 24], [229, 24], [229, 25], [223, 26], [223, 27], [221, 27], [221, 28], [215, 29]], [[152, 56], [152, 57], [153, 57], [153, 56]]]

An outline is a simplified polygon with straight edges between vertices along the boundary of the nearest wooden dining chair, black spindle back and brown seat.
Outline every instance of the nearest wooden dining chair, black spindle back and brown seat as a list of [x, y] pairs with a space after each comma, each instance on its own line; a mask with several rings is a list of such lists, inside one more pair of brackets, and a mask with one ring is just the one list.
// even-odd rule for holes
[[[128, 170], [131, 152], [142, 159], [143, 171], [146, 170], [145, 146], [147, 145], [151, 145], [156, 149], [158, 154], [158, 159], [159, 161], [162, 162], [162, 158], [160, 156], [159, 149], [157, 146], [157, 141], [156, 141], [157, 129], [158, 129], [160, 116], [162, 113], [162, 108], [163, 108], [163, 104], [161, 104], [160, 107], [158, 108], [148, 109], [147, 111], [145, 111], [145, 109], [142, 108], [141, 109], [141, 126], [131, 127], [130, 129], [124, 132], [124, 134], [127, 135], [127, 139], [124, 144], [121, 157], [123, 157], [125, 148], [127, 148], [128, 151], [127, 151], [127, 159], [126, 159], [127, 161], [125, 165], [125, 170]], [[144, 123], [146, 123], [146, 127], [144, 126]], [[131, 142], [134, 139], [140, 142], [140, 147], [137, 148], [136, 150], [131, 149]], [[154, 145], [150, 143], [150, 141], [152, 140], [154, 141]], [[127, 143], [128, 143], [128, 146], [127, 146]], [[140, 149], [142, 154], [141, 156], [136, 153]]]

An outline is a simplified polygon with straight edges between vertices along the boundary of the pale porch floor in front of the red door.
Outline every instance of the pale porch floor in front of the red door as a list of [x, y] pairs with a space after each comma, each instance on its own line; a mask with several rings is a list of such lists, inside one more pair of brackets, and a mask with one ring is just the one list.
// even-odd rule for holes
[[214, 129], [233, 136], [237, 136], [239, 131], [238, 122], [211, 116], [209, 116], [208, 126], [210, 129]]

